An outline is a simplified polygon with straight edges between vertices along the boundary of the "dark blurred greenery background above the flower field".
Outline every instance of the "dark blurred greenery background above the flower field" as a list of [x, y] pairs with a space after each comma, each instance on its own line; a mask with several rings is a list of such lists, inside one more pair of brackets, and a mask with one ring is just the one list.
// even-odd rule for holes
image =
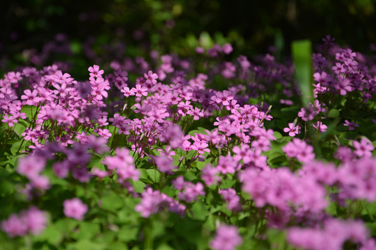
[[189, 56], [197, 46], [225, 42], [235, 56], [277, 49], [283, 59], [292, 40], [317, 44], [325, 35], [366, 53], [376, 42], [375, 6], [375, 0], [2, 0], [0, 73], [67, 59], [86, 67], [152, 50]]

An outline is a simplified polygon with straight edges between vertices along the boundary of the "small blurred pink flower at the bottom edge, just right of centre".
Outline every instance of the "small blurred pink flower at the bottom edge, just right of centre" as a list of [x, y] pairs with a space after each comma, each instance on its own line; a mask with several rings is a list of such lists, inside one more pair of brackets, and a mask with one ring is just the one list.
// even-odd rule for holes
[[210, 247], [214, 250], [235, 250], [242, 242], [236, 226], [221, 225], [210, 242]]

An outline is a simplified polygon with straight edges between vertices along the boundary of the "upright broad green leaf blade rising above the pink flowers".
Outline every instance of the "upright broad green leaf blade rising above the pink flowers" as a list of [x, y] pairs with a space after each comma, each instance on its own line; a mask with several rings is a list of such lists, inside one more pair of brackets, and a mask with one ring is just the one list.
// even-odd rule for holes
[[292, 42], [292, 58], [295, 63], [295, 74], [299, 89], [302, 92], [301, 103], [308, 106], [310, 102], [313, 103], [311, 41]]

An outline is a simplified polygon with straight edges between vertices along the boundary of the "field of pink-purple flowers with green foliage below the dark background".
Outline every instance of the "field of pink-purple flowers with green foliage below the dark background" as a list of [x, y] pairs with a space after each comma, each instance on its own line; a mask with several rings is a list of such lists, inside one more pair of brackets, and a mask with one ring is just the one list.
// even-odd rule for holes
[[375, 51], [231, 53], [6, 73], [0, 249], [376, 249]]

